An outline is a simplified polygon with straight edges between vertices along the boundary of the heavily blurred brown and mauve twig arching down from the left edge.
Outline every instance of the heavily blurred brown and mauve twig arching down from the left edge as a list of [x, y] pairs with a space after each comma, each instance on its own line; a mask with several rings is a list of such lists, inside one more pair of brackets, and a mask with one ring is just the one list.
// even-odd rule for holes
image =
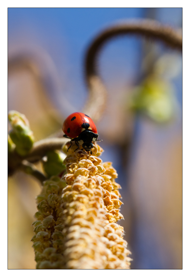
[[[48, 119], [54, 125], [60, 126], [62, 116], [51, 101], [49, 93], [58, 89], [58, 81], [56, 80], [57, 72], [49, 56], [44, 52], [35, 51], [35, 49], [22, 53], [18, 52], [10, 55], [8, 58], [8, 76], [18, 71], [29, 71], [35, 82], [38, 84], [38, 93], [36, 97], [41, 107], [46, 112]], [[49, 93], [48, 93], [49, 90]]]

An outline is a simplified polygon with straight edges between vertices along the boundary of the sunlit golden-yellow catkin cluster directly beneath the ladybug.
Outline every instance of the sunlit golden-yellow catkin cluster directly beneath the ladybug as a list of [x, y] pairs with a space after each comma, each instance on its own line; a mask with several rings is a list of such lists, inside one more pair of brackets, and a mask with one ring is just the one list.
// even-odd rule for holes
[[63, 268], [66, 269], [130, 269], [130, 253], [123, 239], [122, 202], [117, 173], [110, 162], [98, 157], [103, 152], [95, 144], [93, 155], [73, 145], [64, 163], [63, 177]]

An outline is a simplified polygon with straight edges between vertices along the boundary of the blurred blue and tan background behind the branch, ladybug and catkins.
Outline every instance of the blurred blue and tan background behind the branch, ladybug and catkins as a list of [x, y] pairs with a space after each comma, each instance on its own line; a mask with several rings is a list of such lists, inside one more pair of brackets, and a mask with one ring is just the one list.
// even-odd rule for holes
[[[152, 18], [182, 32], [182, 8], [8, 8], [8, 110], [29, 119], [36, 140], [59, 130], [87, 99], [84, 57], [104, 28]], [[123, 36], [98, 60], [108, 90], [96, 123], [113, 162], [132, 269], [182, 268], [182, 57], [160, 42]], [[8, 129], [10, 126], [8, 127]], [[10, 129], [9, 129], [10, 130]], [[38, 181], [8, 183], [8, 268], [34, 269]]]

